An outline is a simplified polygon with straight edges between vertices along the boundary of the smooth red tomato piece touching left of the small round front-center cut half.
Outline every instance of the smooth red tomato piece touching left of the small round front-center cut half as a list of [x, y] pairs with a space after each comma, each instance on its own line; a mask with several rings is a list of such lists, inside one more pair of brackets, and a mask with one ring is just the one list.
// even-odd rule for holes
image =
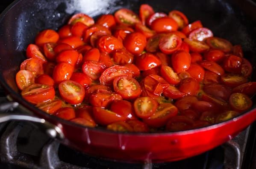
[[127, 100], [115, 100], [110, 106], [112, 112], [124, 116], [127, 119], [136, 119], [133, 104]]

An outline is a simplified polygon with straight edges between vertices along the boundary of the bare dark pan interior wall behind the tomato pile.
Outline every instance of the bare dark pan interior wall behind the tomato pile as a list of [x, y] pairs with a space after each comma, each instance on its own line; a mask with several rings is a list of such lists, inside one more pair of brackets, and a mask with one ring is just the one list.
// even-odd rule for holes
[[[250, 0], [20, 0], [0, 15], [0, 81], [16, 99], [15, 74], [25, 60], [25, 50], [43, 29], [59, 29], [75, 13], [97, 19], [120, 8], [138, 13], [139, 6], [150, 4], [155, 11], [182, 11], [189, 22], [201, 20], [215, 36], [232, 44], [241, 44], [244, 55], [253, 64], [256, 81], [256, 4]], [[254, 98], [254, 106], [256, 101]]]

